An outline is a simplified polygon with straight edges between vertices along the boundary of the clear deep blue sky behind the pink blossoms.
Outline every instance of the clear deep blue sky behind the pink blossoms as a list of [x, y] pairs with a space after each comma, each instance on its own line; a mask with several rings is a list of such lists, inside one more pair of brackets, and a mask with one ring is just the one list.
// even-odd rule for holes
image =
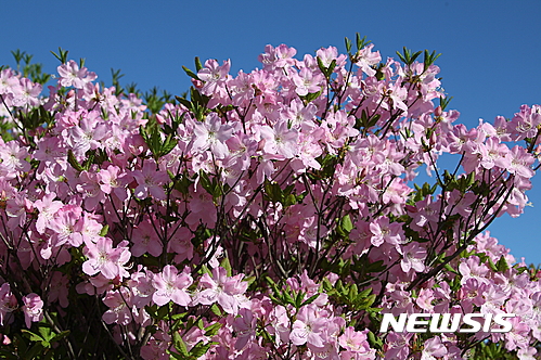
[[[34, 54], [53, 73], [50, 51], [86, 57], [99, 80], [137, 82], [179, 94], [190, 86], [182, 65], [231, 59], [232, 72], [259, 66], [266, 44], [286, 43], [297, 57], [321, 47], [344, 52], [344, 37], [366, 36], [384, 59], [397, 50], [436, 50], [442, 87], [460, 121], [513, 117], [521, 104], [541, 103], [541, 2], [476, 0], [387, 1], [7, 1], [2, 3], [0, 64], [11, 50]], [[541, 263], [541, 175], [529, 192], [533, 207], [498, 219], [491, 234], [515, 257]]]

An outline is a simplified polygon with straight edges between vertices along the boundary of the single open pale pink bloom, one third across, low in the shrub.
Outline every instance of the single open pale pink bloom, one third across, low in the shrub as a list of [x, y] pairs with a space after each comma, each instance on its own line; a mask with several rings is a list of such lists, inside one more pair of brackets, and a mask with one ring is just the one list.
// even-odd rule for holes
[[152, 284], [156, 292], [152, 295], [153, 301], [163, 306], [172, 300], [180, 306], [188, 306], [191, 303], [186, 288], [193, 283], [190, 269], [185, 268], [182, 273], [172, 265], [164, 267], [162, 273], [155, 274]]

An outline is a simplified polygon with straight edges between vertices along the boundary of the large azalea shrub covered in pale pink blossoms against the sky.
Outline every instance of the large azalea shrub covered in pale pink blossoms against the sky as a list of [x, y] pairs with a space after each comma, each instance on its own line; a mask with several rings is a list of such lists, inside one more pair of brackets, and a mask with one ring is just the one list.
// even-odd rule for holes
[[[485, 230], [528, 202], [541, 107], [468, 129], [434, 52], [356, 46], [196, 61], [152, 108], [65, 52], [48, 95], [3, 68], [2, 357], [536, 359], [538, 273]], [[388, 312], [516, 317], [381, 333]]]

